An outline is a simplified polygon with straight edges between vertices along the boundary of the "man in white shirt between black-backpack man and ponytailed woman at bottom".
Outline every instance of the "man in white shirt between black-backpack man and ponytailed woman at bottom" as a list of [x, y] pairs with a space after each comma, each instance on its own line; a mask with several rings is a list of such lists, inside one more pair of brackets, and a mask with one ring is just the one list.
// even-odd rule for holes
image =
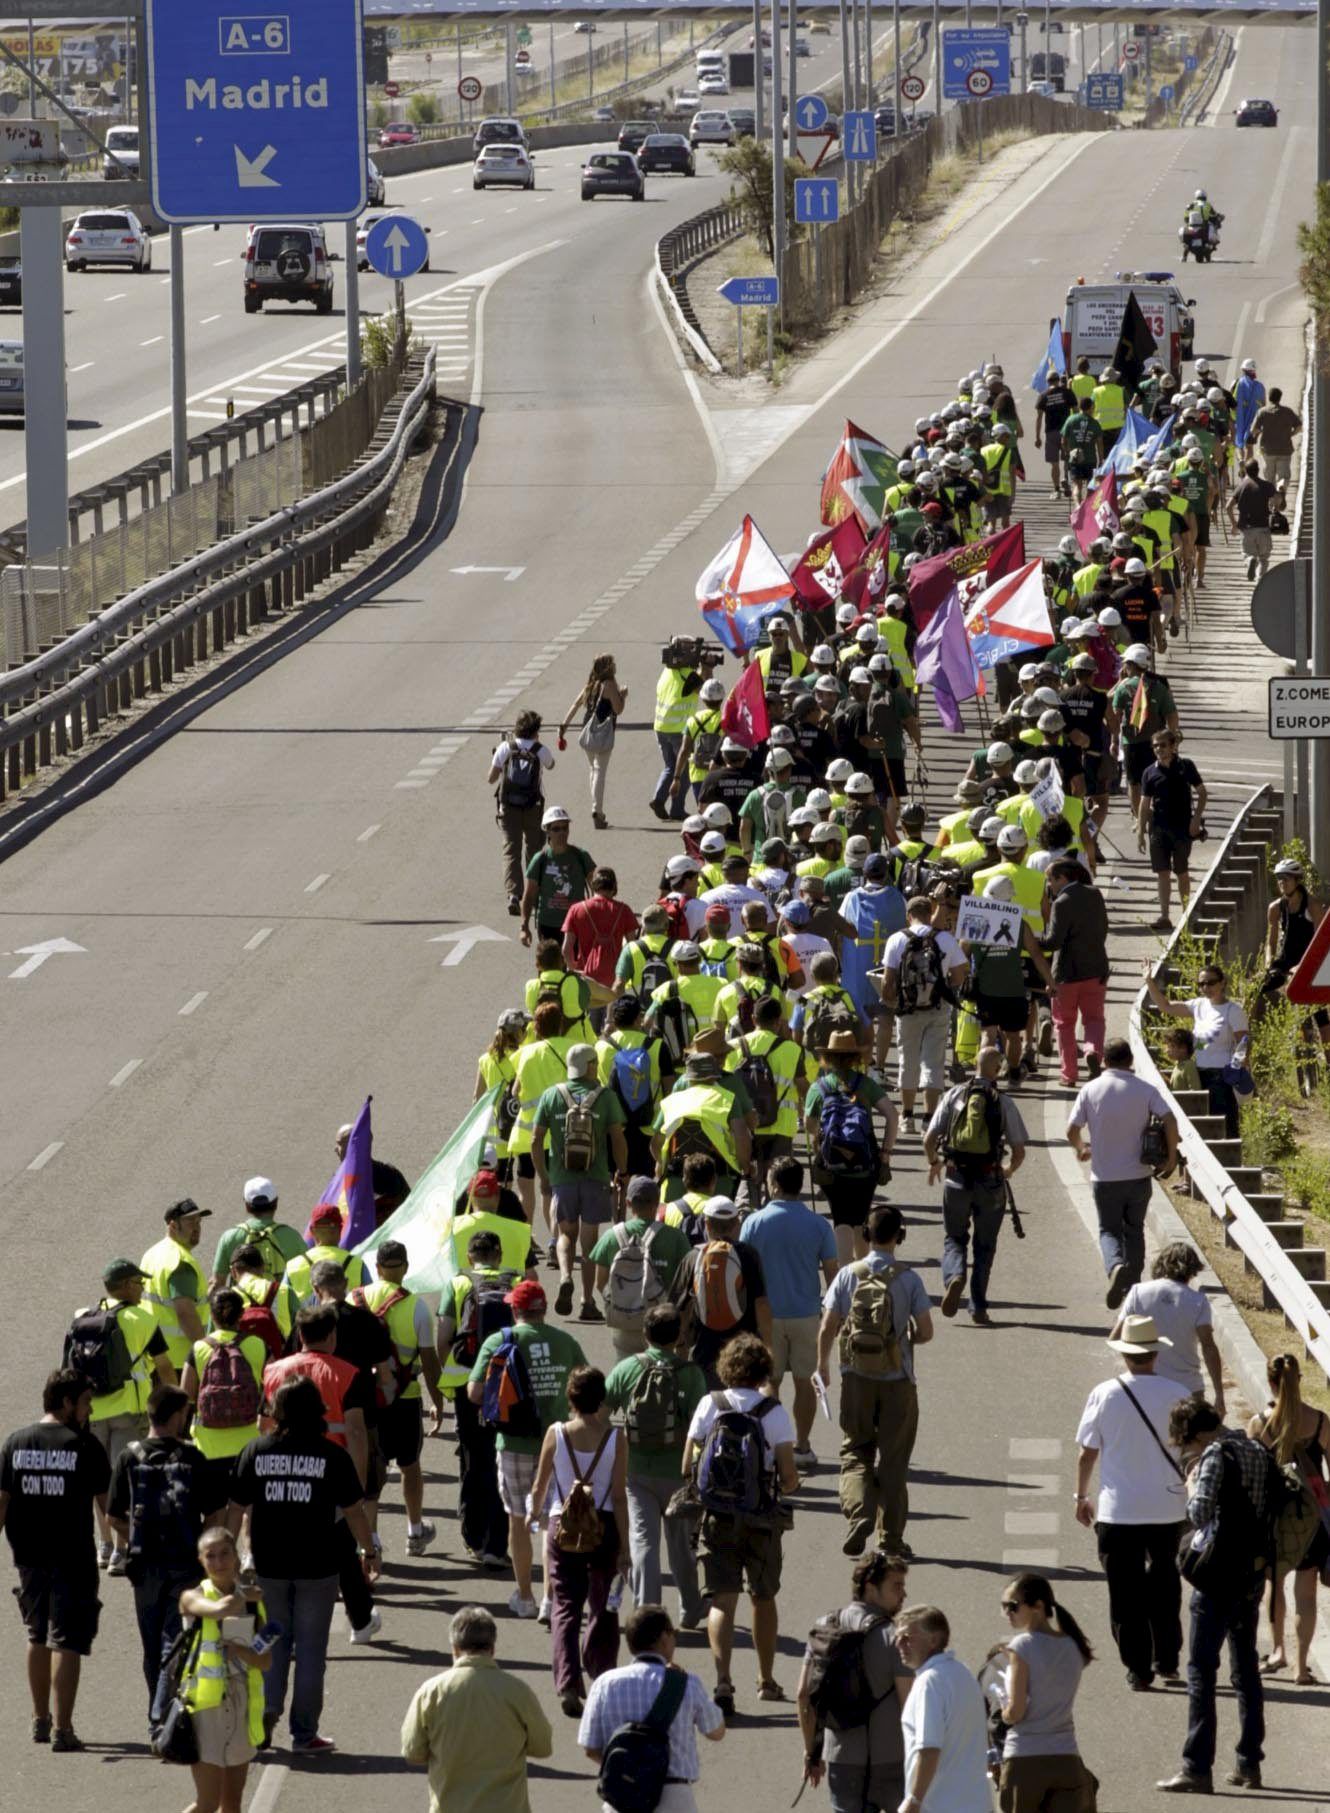
[[906, 1797], [899, 1813], [991, 1813], [984, 1695], [948, 1648], [946, 1614], [935, 1605], [908, 1605], [897, 1614], [895, 1641], [915, 1670], [901, 1713]]

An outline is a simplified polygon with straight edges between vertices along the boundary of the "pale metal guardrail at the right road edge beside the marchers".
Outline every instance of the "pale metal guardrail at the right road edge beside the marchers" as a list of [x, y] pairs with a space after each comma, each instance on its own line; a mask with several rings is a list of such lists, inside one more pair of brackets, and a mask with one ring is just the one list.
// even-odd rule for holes
[[[1163, 948], [1156, 970], [1161, 988], [1178, 977], [1181, 941], [1203, 939], [1218, 959], [1250, 954], [1265, 941], [1270, 847], [1283, 841], [1283, 801], [1272, 787], [1254, 792], [1234, 819], [1190, 897], [1187, 912]], [[1263, 1188], [1261, 1166], [1243, 1164], [1241, 1139], [1227, 1139], [1221, 1115], [1209, 1111], [1203, 1090], [1174, 1095], [1154, 1062], [1145, 1030], [1152, 1008], [1147, 992], [1131, 1008], [1131, 1048], [1136, 1075], [1152, 1082], [1178, 1122], [1178, 1151], [1187, 1168], [1189, 1193], [1223, 1224], [1227, 1246], [1238, 1247], [1248, 1273], [1261, 1280], [1267, 1309], [1283, 1314], [1303, 1343], [1308, 1362], [1330, 1383], [1330, 1280], [1326, 1249], [1308, 1246], [1308, 1224], [1288, 1215], [1281, 1191]], [[1314, 1231], [1314, 1227], [1312, 1227]]]

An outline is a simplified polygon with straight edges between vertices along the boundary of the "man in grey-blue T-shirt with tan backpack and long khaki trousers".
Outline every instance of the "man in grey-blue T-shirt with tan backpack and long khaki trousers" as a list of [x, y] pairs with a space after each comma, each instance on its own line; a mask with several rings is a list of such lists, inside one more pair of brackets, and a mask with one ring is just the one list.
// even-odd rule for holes
[[843, 1554], [861, 1556], [870, 1539], [910, 1559], [910, 1456], [919, 1432], [915, 1347], [933, 1340], [933, 1313], [922, 1278], [897, 1260], [901, 1211], [882, 1202], [868, 1215], [868, 1256], [844, 1265], [823, 1298], [817, 1378], [832, 1383], [832, 1345], [841, 1358]]

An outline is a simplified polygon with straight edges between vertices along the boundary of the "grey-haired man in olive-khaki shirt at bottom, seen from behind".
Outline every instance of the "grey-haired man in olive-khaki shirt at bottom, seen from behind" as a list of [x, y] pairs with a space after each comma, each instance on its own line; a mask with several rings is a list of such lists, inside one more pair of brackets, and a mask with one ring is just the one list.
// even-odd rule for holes
[[429, 1771], [429, 1813], [531, 1813], [527, 1762], [554, 1751], [540, 1701], [495, 1661], [498, 1626], [478, 1605], [448, 1624], [453, 1664], [422, 1681], [402, 1721], [402, 1762]]

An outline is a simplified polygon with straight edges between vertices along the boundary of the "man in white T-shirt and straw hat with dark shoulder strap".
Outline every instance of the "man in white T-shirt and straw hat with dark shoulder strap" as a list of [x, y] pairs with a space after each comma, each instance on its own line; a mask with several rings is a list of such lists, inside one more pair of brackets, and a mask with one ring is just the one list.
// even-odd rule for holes
[[[1181, 1652], [1178, 1539], [1187, 1498], [1169, 1445], [1169, 1411], [1187, 1391], [1154, 1376], [1167, 1345], [1149, 1316], [1123, 1316], [1109, 1347], [1123, 1354], [1127, 1371], [1094, 1387], [1076, 1430], [1076, 1523], [1098, 1536], [1113, 1639], [1127, 1686], [1138, 1693], [1154, 1675], [1174, 1681]], [[1100, 1496], [1093, 1505], [1096, 1459]]]

